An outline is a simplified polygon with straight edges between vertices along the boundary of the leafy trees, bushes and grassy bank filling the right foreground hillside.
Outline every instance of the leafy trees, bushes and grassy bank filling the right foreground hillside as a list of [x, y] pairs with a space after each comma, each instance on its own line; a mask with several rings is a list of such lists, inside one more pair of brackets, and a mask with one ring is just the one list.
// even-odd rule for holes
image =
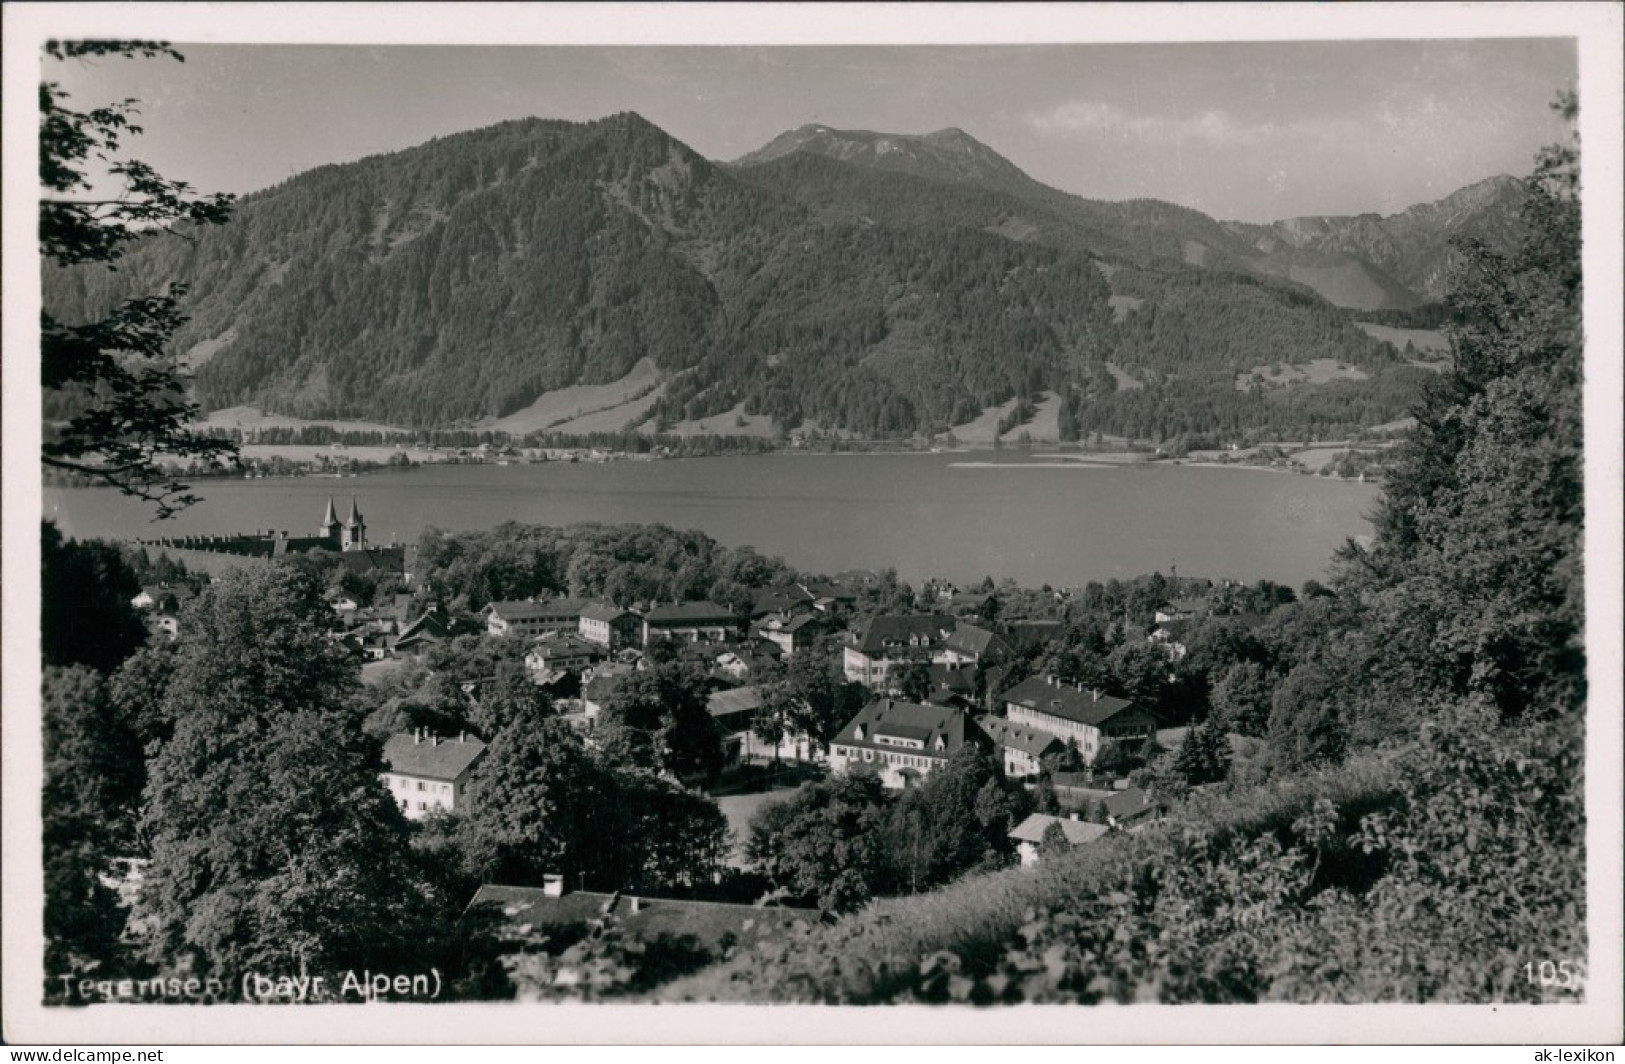
[[1242, 663], [1214, 689], [1219, 716], [1268, 715], [1263, 783], [757, 944], [663, 997], [1583, 994], [1576, 169], [1571, 148], [1542, 156], [1514, 252], [1461, 247], [1454, 369], [1417, 408], [1376, 541], [1342, 551], [1318, 606], [1276, 627], [1289, 671]]

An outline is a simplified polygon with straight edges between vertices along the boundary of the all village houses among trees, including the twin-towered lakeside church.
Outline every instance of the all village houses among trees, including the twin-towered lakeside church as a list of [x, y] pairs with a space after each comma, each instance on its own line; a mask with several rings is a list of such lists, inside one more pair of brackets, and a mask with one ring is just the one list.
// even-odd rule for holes
[[[366, 565], [379, 564], [354, 500], [344, 521], [336, 518], [330, 500], [315, 538], [219, 538], [188, 541], [174, 552], [188, 564], [210, 552], [229, 554], [240, 564], [244, 556], [271, 560], [317, 547], [364, 559]], [[410, 582], [403, 552], [388, 549], [382, 564], [398, 565]], [[874, 773], [886, 788], [899, 791], [947, 765], [965, 744], [993, 752], [1012, 780], [1032, 781], [1050, 765], [1081, 763], [1082, 773], [1056, 773], [1056, 783], [1098, 796], [1108, 824], [1089, 824], [1076, 814], [1034, 814], [1012, 830], [1024, 864], [1038, 859], [1040, 841], [1051, 825], [1058, 824], [1064, 838], [1079, 845], [1112, 827], [1133, 827], [1157, 815], [1155, 801], [1144, 791], [1128, 788], [1126, 781], [1095, 783], [1087, 772], [1103, 742], [1154, 736], [1160, 721], [1152, 710], [1055, 676], [1008, 682], [1019, 648], [1053, 638], [1060, 622], [983, 622], [988, 595], [938, 582], [926, 586], [926, 598], [941, 612], [858, 617], [855, 585], [861, 578], [760, 590], [748, 609], [710, 601], [629, 609], [604, 601], [535, 598], [489, 603], [476, 617], [460, 619], [408, 593], [372, 606], [333, 593], [332, 634], [367, 661], [421, 660], [431, 647], [463, 634], [523, 640], [526, 674], [588, 741], [618, 684], [648, 666], [650, 648], [668, 643], [668, 650], [704, 666], [710, 720], [730, 763], [812, 762], [832, 773]], [[143, 588], [135, 606], [146, 611], [156, 630], [174, 637], [180, 606], [190, 595], [184, 585]], [[1202, 609], [1201, 599], [1170, 601], [1159, 609], [1152, 638], [1170, 660], [1183, 653], [1178, 643], [1183, 622]], [[827, 744], [808, 734], [762, 741], [760, 674], [829, 647], [830, 637], [838, 638], [845, 679], [863, 684], [873, 699]], [[462, 692], [478, 700], [486, 682], [463, 681]], [[410, 819], [466, 809], [468, 783], [484, 754], [486, 744], [468, 733], [395, 734], [384, 747], [384, 781]]]

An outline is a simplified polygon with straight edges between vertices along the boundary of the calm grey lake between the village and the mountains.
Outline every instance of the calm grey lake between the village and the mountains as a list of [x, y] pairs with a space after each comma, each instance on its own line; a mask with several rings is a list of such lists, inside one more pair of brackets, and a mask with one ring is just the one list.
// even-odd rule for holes
[[751, 544], [804, 572], [895, 567], [910, 582], [1079, 585], [1178, 565], [1186, 577], [1324, 578], [1372, 531], [1378, 487], [1248, 468], [1084, 465], [1011, 452], [749, 455], [668, 461], [421, 466], [346, 479], [200, 479], [169, 521], [109, 489], [47, 489], [75, 538], [288, 530], [315, 534], [356, 494], [369, 539], [500, 521], [645, 521]]

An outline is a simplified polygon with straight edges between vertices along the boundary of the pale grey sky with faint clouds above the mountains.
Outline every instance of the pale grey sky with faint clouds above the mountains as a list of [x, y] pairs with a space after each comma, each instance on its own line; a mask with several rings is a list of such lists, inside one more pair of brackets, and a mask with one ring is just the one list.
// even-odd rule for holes
[[1219, 219], [1398, 213], [1528, 174], [1562, 135], [1573, 39], [1090, 45], [188, 44], [44, 60], [76, 106], [141, 101], [132, 154], [245, 193], [325, 162], [528, 115], [635, 110], [712, 159], [811, 122], [959, 127], [1032, 177]]

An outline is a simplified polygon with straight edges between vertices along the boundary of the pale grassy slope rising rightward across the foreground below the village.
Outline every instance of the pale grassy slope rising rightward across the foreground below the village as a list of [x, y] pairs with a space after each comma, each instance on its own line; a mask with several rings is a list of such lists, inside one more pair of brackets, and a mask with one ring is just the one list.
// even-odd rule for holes
[[[1316, 798], [1336, 802], [1350, 827], [1388, 806], [1398, 780], [1378, 757], [1256, 788], [1193, 799], [1180, 820], [1212, 835], [1285, 833]], [[923, 895], [886, 898], [812, 929], [783, 949], [757, 950], [678, 980], [658, 1001], [816, 1001], [864, 1004], [907, 997], [921, 960], [952, 952], [965, 971], [986, 971], [1035, 911], [1069, 908], [1110, 890], [1129, 869], [1164, 859], [1167, 824], [1074, 850], [1032, 869], [968, 876]]]

